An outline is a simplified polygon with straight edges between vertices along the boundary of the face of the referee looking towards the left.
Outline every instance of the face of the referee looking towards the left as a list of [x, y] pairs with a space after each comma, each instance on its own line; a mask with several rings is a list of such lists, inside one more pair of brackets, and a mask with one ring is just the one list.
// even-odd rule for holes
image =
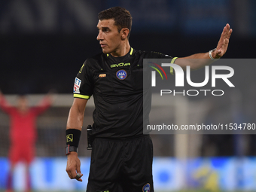
[[103, 53], [118, 53], [122, 49], [122, 36], [118, 32], [117, 26], [114, 25], [114, 20], [99, 20], [97, 25], [99, 35], [97, 40], [102, 47]]

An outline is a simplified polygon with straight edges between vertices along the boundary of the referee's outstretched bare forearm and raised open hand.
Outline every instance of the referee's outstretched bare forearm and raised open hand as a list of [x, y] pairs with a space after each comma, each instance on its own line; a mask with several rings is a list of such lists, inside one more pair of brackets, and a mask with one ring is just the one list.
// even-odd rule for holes
[[[219, 59], [226, 53], [231, 33], [232, 29], [230, 29], [230, 25], [227, 24], [221, 33], [221, 38], [218, 41], [216, 49], [212, 51], [212, 57], [214, 59]], [[186, 66], [190, 66], [190, 69], [197, 70], [211, 64], [213, 61], [214, 60], [210, 59], [209, 53], [207, 52], [178, 58], [175, 64], [181, 66], [182, 69], [186, 69]]]

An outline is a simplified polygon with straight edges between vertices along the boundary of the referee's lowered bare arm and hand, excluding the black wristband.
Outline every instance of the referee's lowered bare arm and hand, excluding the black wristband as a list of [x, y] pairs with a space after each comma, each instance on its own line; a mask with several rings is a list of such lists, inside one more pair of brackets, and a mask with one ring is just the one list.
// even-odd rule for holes
[[[75, 98], [72, 107], [69, 111], [69, 117], [66, 130], [82, 130], [84, 120], [84, 109], [88, 99]], [[73, 138], [75, 139], [75, 137]], [[81, 174], [81, 163], [78, 158], [78, 153], [75, 151], [68, 154], [66, 172], [69, 178], [76, 178], [77, 173]], [[82, 181], [81, 178], [76, 178], [78, 181]]]

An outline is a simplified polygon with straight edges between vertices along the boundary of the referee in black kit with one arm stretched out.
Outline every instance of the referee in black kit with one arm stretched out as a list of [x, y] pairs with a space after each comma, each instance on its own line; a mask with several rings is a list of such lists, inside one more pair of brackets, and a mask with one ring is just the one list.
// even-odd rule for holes
[[[69, 178], [82, 181], [78, 143], [84, 109], [93, 95], [90, 136], [94, 139], [87, 192], [154, 191], [153, 146], [150, 136], [143, 134], [143, 59], [169, 58], [183, 69], [200, 69], [226, 53], [232, 33], [227, 24], [216, 49], [179, 59], [133, 49], [129, 43], [131, 27], [132, 17], [124, 8], [100, 12], [97, 40], [103, 53], [87, 59], [75, 78], [75, 99], [66, 128], [66, 172]], [[189, 59], [197, 59], [197, 63]]]

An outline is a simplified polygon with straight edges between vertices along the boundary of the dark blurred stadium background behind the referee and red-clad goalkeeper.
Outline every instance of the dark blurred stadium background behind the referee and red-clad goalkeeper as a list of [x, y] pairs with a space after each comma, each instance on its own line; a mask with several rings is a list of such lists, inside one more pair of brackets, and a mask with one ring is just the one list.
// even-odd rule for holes
[[[1, 1], [0, 89], [14, 104], [20, 93], [29, 95], [31, 105], [50, 89], [57, 93], [53, 107], [38, 118], [37, 157], [31, 170], [35, 190], [75, 191], [84, 190], [86, 186], [90, 151], [85, 148], [79, 151], [83, 183], [69, 180], [65, 172], [66, 118], [72, 105], [75, 75], [88, 56], [101, 51], [96, 41], [97, 13], [117, 5], [128, 9], [133, 16], [130, 44], [135, 49], [155, 50], [171, 56], [206, 52], [216, 46], [224, 25], [230, 23], [233, 35], [224, 58], [254, 58], [256, 53], [254, 0]], [[254, 68], [241, 68], [241, 72], [251, 74]], [[202, 122], [212, 117], [212, 120], [224, 119], [230, 123], [232, 110], [237, 111], [236, 117], [253, 121], [256, 106], [253, 80], [248, 78], [243, 90], [230, 93], [221, 103], [216, 104], [210, 98], [187, 98], [186, 103], [191, 108], [197, 106], [197, 110], [193, 108], [194, 115], [206, 106], [210, 108]], [[90, 101], [84, 126], [92, 123], [92, 111], [93, 101]], [[175, 111], [170, 115], [175, 122]], [[5, 187], [9, 166], [8, 127], [8, 116], [0, 111], [0, 189]], [[82, 137], [86, 138], [85, 131]], [[254, 135], [185, 138], [153, 135], [156, 191], [256, 190], [254, 138]], [[183, 139], [187, 142], [182, 143]], [[176, 146], [177, 141], [181, 142], [180, 148]], [[86, 142], [82, 139], [81, 146]], [[16, 169], [17, 190], [24, 187], [23, 169], [22, 163]]]

